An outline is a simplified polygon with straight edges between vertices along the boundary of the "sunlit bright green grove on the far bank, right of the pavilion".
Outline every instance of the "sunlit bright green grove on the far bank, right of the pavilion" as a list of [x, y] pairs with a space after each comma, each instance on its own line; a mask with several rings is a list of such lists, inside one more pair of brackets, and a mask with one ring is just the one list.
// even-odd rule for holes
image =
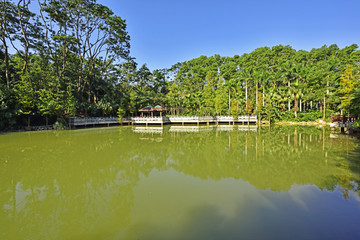
[[[170, 107], [190, 114], [229, 114], [237, 102], [239, 114], [261, 114], [271, 104], [277, 119], [301, 118], [305, 112], [324, 118], [337, 111], [358, 114], [353, 101], [359, 83], [357, 48], [325, 45], [308, 52], [279, 45], [242, 56], [201, 56], [177, 65], [169, 84], [181, 95]], [[351, 79], [345, 81], [345, 75]], [[221, 111], [215, 110], [216, 101], [223, 102]]]

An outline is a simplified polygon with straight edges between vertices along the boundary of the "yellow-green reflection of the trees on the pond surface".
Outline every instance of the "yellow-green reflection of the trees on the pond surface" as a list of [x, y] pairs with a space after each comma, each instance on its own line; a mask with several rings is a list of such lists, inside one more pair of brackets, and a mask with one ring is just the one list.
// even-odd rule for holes
[[123, 127], [1, 136], [1, 234], [53, 239], [73, 231], [88, 238], [106, 225], [112, 230], [104, 234], [112, 238], [118, 234], [113, 229], [131, 221], [134, 188], [153, 170], [174, 169], [203, 180], [242, 179], [273, 191], [294, 184], [339, 188], [345, 199], [358, 191], [357, 143], [330, 138], [329, 129], [165, 129], [161, 141], [139, 141], [149, 134]]

